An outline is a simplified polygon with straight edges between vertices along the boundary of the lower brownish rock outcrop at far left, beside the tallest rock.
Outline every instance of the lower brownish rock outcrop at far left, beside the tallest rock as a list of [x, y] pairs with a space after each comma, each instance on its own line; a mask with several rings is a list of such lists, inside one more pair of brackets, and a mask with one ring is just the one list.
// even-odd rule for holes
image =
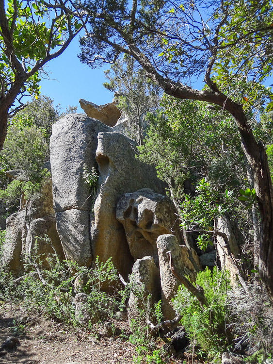
[[29, 252], [31, 242], [31, 248], [35, 244], [37, 254], [42, 254], [40, 259], [45, 267], [48, 266], [46, 258], [50, 253], [57, 252], [60, 259], [64, 258], [56, 230], [50, 178], [44, 180], [40, 193], [27, 206], [21, 199], [20, 211], [7, 218], [2, 260], [15, 276], [23, 271], [25, 255]]

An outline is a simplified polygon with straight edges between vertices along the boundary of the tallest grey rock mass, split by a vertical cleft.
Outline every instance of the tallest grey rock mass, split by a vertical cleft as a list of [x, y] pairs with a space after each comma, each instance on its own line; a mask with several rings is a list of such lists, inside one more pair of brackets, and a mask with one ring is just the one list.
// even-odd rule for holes
[[[122, 275], [130, 273], [133, 260], [123, 226], [116, 219], [118, 199], [144, 187], [164, 192], [155, 168], [136, 160], [135, 154], [134, 141], [83, 114], [65, 116], [53, 125], [50, 138], [53, 200], [66, 258], [88, 266], [92, 255], [99, 256], [102, 262], [112, 257]], [[91, 223], [94, 201], [83, 179], [84, 164], [88, 170], [98, 165], [99, 171]]]

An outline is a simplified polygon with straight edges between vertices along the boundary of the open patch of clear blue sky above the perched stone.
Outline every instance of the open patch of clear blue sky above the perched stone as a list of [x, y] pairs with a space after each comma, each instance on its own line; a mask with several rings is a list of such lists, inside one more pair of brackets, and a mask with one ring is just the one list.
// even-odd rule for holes
[[106, 80], [103, 70], [110, 68], [92, 69], [80, 63], [77, 54], [80, 53], [79, 37], [73, 39], [64, 53], [49, 61], [45, 66], [48, 79], [40, 82], [41, 95], [49, 96], [54, 105], [60, 104], [65, 109], [68, 105], [78, 106], [81, 112], [79, 99], [94, 102], [98, 105], [111, 102], [113, 93], [102, 86]]

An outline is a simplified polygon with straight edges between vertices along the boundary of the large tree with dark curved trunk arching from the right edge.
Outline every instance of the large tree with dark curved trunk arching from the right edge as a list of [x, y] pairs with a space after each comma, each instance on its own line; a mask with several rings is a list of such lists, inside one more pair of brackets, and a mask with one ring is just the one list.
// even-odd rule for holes
[[[233, 90], [228, 90], [233, 78], [252, 77], [255, 87], [255, 81], [272, 71], [272, 0], [229, 0], [216, 5], [199, 0], [133, 0], [131, 8], [126, 0], [88, 0], [82, 8], [90, 15], [89, 31], [80, 40], [82, 62], [112, 63], [126, 53], [166, 94], [206, 101], [233, 116], [253, 173], [261, 218], [259, 274], [273, 299], [273, 187], [267, 156], [244, 112], [242, 99], [252, 100], [247, 95], [240, 101], [233, 99]], [[189, 79], [201, 73], [208, 88], [189, 87]], [[225, 80], [221, 88], [219, 77]]]

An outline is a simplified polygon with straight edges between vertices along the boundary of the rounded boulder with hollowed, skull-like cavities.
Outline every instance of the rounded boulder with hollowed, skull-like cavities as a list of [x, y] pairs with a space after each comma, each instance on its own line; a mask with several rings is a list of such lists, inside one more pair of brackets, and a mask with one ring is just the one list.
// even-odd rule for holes
[[178, 237], [180, 233], [175, 214], [171, 199], [151, 189], [127, 193], [119, 199], [116, 217], [124, 226], [130, 253], [135, 261], [150, 255], [159, 265], [158, 236], [174, 233]]

